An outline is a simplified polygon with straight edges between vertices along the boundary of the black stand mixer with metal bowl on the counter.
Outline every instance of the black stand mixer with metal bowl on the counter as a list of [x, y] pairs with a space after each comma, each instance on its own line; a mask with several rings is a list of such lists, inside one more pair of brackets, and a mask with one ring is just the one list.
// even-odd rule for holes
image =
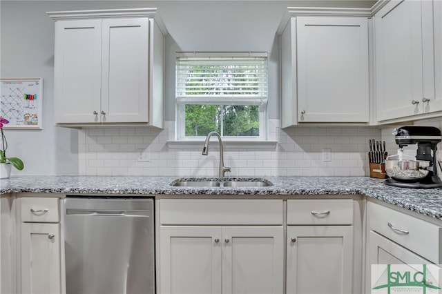
[[[385, 184], [401, 188], [439, 188], [442, 181], [437, 173], [437, 144], [442, 141], [441, 130], [432, 126], [403, 126], [393, 132], [398, 155], [385, 160], [385, 170], [391, 179]], [[403, 160], [402, 148], [417, 144], [416, 160]], [[398, 156], [398, 160], [389, 160]]]

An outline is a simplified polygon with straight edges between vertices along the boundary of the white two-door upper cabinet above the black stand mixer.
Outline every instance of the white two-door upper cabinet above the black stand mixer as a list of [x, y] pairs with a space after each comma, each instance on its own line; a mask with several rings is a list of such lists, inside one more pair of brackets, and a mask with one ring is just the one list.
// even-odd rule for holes
[[394, 0], [376, 12], [378, 121], [441, 115], [441, 17], [440, 1]]

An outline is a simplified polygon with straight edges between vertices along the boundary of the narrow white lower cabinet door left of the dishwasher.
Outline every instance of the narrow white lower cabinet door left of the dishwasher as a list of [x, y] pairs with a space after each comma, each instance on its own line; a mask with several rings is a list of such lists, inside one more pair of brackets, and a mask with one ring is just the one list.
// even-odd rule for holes
[[59, 224], [21, 224], [21, 293], [61, 293]]

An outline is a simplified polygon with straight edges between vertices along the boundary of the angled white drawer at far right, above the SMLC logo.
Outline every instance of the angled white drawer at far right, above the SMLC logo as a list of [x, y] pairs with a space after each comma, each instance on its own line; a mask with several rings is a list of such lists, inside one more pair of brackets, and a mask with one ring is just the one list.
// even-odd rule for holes
[[442, 262], [442, 227], [372, 202], [367, 209], [370, 230], [431, 262]]

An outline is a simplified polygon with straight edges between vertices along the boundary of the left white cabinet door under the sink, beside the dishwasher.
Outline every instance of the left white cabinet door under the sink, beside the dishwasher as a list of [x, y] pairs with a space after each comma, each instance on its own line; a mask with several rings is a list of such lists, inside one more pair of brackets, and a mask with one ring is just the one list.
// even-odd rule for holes
[[221, 293], [222, 229], [160, 228], [161, 293]]

